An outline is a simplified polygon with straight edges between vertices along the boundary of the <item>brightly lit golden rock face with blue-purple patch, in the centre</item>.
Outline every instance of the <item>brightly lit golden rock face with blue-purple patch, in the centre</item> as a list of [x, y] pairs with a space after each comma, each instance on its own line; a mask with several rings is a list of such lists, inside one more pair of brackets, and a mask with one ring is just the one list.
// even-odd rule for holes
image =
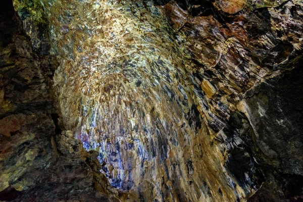
[[[193, 99], [202, 92], [160, 11], [152, 2], [73, 3], [50, 19], [51, 32], [68, 30], [56, 36], [65, 40], [54, 45], [62, 57], [54, 80], [65, 126], [87, 149], [99, 151], [112, 185], [132, 189], [137, 199], [164, 201], [203, 199], [211, 194], [208, 187], [228, 184], [216, 152], [200, 161], [203, 147], [210, 147]], [[54, 3], [50, 12], [62, 7]], [[76, 17], [83, 15], [91, 19]], [[84, 25], [85, 32], [78, 31]], [[200, 175], [202, 170], [209, 171]], [[216, 179], [208, 176], [216, 170]]]

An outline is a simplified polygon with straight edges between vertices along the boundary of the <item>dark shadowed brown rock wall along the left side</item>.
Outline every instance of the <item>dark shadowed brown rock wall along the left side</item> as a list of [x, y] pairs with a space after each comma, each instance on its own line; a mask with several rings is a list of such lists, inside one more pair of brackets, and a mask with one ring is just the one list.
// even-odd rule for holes
[[[93, 152], [54, 123], [40, 61], [12, 2], [0, 9], [0, 200], [118, 201]], [[44, 58], [43, 58], [44, 59]], [[45, 74], [46, 76], [47, 74]]]

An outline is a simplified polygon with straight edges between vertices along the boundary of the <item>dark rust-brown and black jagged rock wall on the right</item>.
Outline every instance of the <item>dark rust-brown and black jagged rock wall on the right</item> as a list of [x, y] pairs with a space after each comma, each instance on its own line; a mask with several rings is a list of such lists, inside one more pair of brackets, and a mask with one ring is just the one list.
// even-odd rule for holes
[[195, 2], [186, 10], [182, 2], [163, 7], [206, 95], [201, 115], [244, 199], [262, 184], [251, 200], [299, 201], [302, 5], [248, 1], [237, 15], [227, 15], [233, 12], [225, 4], [213, 4], [210, 16]]

